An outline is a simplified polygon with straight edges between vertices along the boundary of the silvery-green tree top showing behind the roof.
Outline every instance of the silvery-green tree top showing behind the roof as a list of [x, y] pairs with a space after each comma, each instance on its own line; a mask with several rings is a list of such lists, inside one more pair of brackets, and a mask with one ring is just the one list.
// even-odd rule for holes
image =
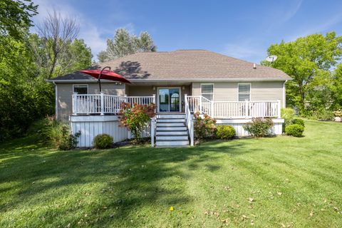
[[98, 53], [98, 60], [102, 63], [123, 56], [128, 56], [136, 52], [157, 51], [149, 33], [140, 33], [140, 36], [132, 36], [125, 28], [115, 31], [115, 36], [107, 40], [105, 51]]

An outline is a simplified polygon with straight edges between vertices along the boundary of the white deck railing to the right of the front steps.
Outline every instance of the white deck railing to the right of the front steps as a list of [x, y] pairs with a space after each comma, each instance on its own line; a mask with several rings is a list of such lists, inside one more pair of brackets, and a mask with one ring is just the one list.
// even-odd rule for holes
[[202, 95], [190, 95], [186, 100], [192, 113], [214, 118], [280, 118], [280, 100], [212, 101]]

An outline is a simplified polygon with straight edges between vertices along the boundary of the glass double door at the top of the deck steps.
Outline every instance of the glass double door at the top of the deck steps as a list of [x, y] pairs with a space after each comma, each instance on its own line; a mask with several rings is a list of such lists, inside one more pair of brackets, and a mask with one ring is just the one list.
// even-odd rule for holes
[[180, 88], [158, 88], [158, 111], [180, 112]]

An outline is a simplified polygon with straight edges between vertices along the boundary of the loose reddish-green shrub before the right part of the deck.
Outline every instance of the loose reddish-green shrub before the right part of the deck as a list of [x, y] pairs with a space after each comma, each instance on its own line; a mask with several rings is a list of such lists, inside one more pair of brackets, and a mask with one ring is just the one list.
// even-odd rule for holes
[[266, 137], [271, 135], [273, 121], [270, 118], [253, 118], [252, 122], [244, 125], [244, 130], [247, 130], [254, 137]]

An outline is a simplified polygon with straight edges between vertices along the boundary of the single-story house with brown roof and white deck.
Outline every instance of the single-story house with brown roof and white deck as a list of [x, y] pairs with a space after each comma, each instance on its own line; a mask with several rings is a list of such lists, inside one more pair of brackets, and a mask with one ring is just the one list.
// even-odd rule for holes
[[281, 134], [284, 120], [283, 71], [255, 65], [204, 50], [134, 53], [95, 68], [110, 66], [131, 84], [101, 81], [75, 72], [50, 80], [56, 88], [56, 116], [70, 121], [73, 132], [81, 130], [80, 146], [91, 146], [99, 133], [115, 142], [130, 138], [118, 123], [120, 103], [155, 103], [156, 118], [144, 133], [152, 146], [193, 145], [192, 114], [207, 113], [217, 125], [232, 125], [237, 136], [255, 117], [272, 118], [274, 134]]

